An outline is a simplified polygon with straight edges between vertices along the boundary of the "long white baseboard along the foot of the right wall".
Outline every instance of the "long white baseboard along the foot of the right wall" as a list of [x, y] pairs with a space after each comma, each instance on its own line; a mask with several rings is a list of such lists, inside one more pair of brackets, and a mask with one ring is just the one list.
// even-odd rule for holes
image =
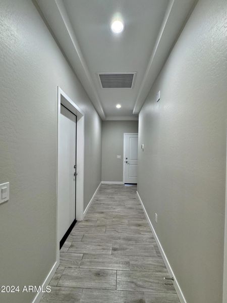
[[183, 292], [182, 292], [182, 290], [181, 290], [181, 287], [180, 287], [180, 285], [179, 285], [179, 283], [178, 283], [178, 281], [177, 281], [177, 279], [176, 279], [176, 276], [175, 276], [175, 274], [174, 274], [174, 272], [173, 272], [173, 269], [171, 268], [171, 265], [169, 264], [168, 259], [167, 259], [166, 255], [165, 255], [164, 249], [162, 248], [161, 243], [160, 243], [160, 241], [159, 241], [159, 239], [158, 239], [158, 236], [157, 236], [157, 234], [156, 234], [156, 232], [155, 232], [155, 230], [154, 230], [154, 228], [153, 228], [153, 225], [152, 225], [152, 223], [151, 223], [151, 221], [150, 221], [150, 219], [149, 219], [149, 217], [148, 217], [148, 214], [147, 214], [147, 212], [146, 212], [146, 209], [145, 209], [145, 207], [144, 207], [144, 205], [143, 205], [143, 202], [142, 202], [142, 200], [141, 200], [141, 198], [140, 198], [140, 195], [139, 195], [138, 191], [137, 191], [136, 193], [137, 193], [137, 196], [138, 196], [138, 198], [139, 198], [139, 200], [140, 200], [140, 204], [141, 204], [142, 209], [143, 209], [143, 211], [144, 211], [144, 214], [145, 214], [145, 216], [146, 216], [146, 218], [147, 218], [147, 222], [148, 222], [148, 224], [149, 224], [149, 226], [150, 226], [150, 229], [151, 229], [151, 231], [152, 231], [152, 233], [153, 233], [153, 236], [154, 236], [154, 238], [155, 238], [155, 241], [156, 241], [156, 243], [157, 243], [157, 246], [158, 246], [158, 248], [159, 248], [159, 250], [160, 250], [162, 259], [163, 259], [164, 264], [165, 264], [165, 266], [166, 266], [166, 268], [167, 268], [167, 271], [168, 271], [168, 273], [169, 273], [169, 276], [171, 276], [171, 277], [174, 278], [174, 287], [175, 287], [175, 289], [176, 289], [176, 291], [177, 291], [177, 294], [178, 294], [178, 296], [179, 296], [180, 302], [181, 302], [181, 303], [187, 303], [187, 301], [186, 301], [186, 299], [185, 299], [185, 297], [184, 297], [184, 294], [183, 294]]

